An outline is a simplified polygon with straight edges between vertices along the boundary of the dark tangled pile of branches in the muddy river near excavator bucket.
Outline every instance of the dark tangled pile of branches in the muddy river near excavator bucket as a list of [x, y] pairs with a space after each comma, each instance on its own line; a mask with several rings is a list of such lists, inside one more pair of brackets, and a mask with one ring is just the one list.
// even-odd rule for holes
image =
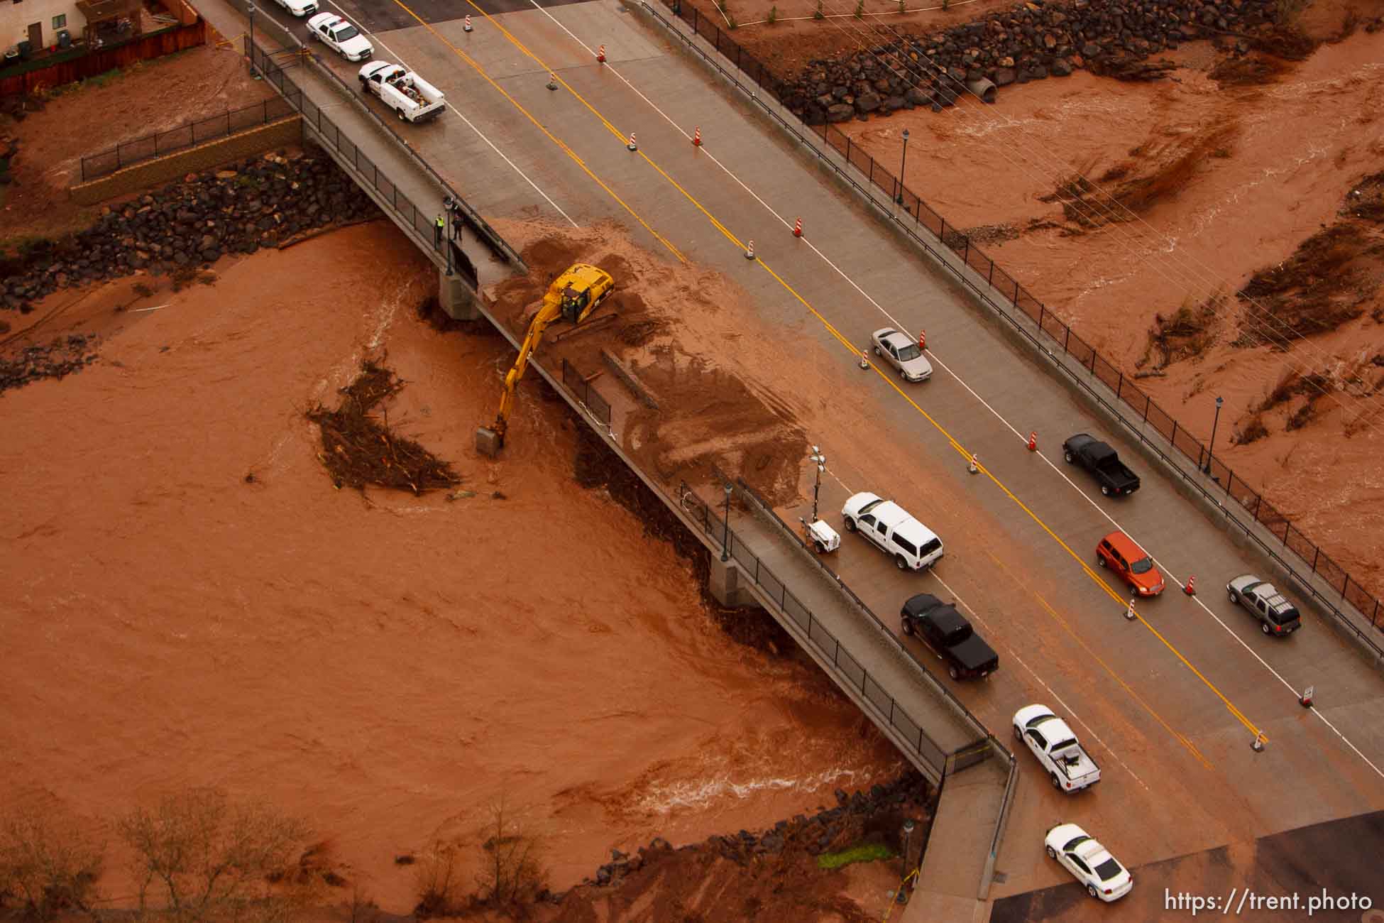
[[403, 387], [404, 382], [392, 369], [365, 361], [356, 381], [340, 389], [336, 410], [318, 404], [307, 411], [307, 419], [322, 432], [322, 451], [317, 457], [338, 488], [365, 490], [374, 484], [417, 495], [461, 483], [450, 462], [390, 430], [388, 414], [383, 422], [371, 415]]

